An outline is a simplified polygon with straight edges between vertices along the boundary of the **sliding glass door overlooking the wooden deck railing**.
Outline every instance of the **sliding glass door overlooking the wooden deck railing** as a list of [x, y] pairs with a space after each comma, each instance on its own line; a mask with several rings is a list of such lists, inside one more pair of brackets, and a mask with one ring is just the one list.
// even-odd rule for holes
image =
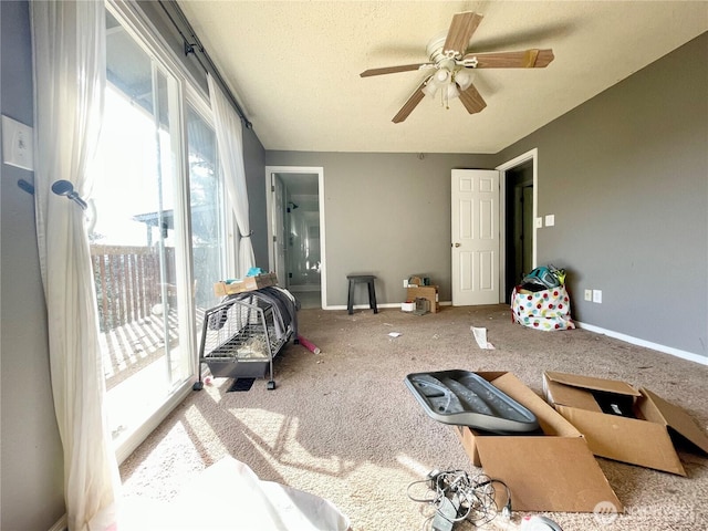
[[187, 104], [178, 73], [116, 17], [106, 19], [90, 238], [118, 446], [195, 375], [197, 308], [215, 302], [227, 231], [208, 114]]

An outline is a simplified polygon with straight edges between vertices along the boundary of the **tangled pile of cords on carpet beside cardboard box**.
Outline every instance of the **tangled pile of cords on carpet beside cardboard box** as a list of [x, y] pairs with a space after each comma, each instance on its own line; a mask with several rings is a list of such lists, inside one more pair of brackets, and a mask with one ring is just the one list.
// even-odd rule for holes
[[[424, 483], [428, 487], [428, 496], [413, 497], [410, 489]], [[452, 524], [467, 520], [479, 527], [491, 522], [499, 513], [494, 485], [504, 488], [507, 502], [503, 504], [502, 514], [511, 518], [509, 487], [503, 481], [485, 473], [470, 476], [465, 470], [433, 470], [426, 479], [408, 485], [407, 494], [413, 501], [433, 506], [438, 517]], [[456, 512], [455, 517], [449, 511], [450, 502]]]

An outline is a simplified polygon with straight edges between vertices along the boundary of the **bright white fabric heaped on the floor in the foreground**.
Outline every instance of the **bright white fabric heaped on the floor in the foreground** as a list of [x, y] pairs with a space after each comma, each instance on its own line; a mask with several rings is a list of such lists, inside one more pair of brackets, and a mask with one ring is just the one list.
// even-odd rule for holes
[[[140, 507], [138, 507], [140, 506]], [[190, 481], [170, 502], [128, 500], [119, 529], [346, 531], [350, 521], [329, 500], [273, 481], [225, 457]]]

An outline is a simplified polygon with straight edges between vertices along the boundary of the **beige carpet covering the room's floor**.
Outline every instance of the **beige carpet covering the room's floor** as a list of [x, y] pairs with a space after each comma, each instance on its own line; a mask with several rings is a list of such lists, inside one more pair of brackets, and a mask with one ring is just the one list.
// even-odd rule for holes
[[[510, 322], [507, 306], [442, 306], [424, 316], [302, 310], [299, 321], [322, 353], [289, 344], [277, 358], [275, 391], [257, 381], [249, 392], [227, 393], [231, 382], [216, 379], [192, 393], [121, 467], [128, 501], [169, 501], [230, 455], [262, 480], [326, 498], [354, 531], [429, 529], [429, 508], [409, 500], [408, 485], [435, 468], [479, 470], [452, 429], [428, 417], [404, 385], [416, 372], [510, 371], [538, 393], [543, 371], [624, 379], [681, 406], [708, 431], [707, 366], [584, 330], [529, 330]], [[496, 350], [479, 348], [472, 325], [487, 329]], [[708, 458], [679, 455], [687, 478], [598, 459], [626, 508], [613, 522], [546, 516], [565, 531], [708, 529]], [[194, 510], [241, 529], [238, 500]], [[488, 529], [518, 529], [523, 516]]]

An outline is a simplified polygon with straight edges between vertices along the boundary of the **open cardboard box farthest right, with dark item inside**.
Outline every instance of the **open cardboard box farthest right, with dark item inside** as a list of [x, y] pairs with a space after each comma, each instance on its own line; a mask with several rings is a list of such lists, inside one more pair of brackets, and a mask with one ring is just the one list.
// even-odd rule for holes
[[546, 372], [543, 392], [546, 400], [585, 436], [596, 456], [686, 476], [669, 427], [708, 454], [708, 436], [694, 419], [644, 387]]

